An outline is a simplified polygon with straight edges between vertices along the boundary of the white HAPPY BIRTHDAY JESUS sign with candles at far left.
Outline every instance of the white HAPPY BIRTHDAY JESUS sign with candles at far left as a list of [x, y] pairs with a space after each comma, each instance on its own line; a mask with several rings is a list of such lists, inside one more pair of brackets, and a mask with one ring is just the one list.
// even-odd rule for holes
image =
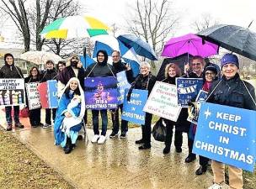
[[24, 79], [0, 79], [0, 106], [19, 106], [24, 103]]

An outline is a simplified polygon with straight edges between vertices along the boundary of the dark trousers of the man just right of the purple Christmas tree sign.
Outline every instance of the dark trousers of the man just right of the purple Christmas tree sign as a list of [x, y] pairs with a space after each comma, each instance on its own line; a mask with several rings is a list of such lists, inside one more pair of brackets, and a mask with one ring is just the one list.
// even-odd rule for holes
[[[119, 105], [121, 113], [123, 113], [123, 104]], [[117, 134], [119, 132], [120, 123], [119, 123], [119, 108], [112, 110], [111, 118], [113, 123], [112, 132]], [[128, 121], [121, 120], [121, 133], [126, 133], [128, 131]]]

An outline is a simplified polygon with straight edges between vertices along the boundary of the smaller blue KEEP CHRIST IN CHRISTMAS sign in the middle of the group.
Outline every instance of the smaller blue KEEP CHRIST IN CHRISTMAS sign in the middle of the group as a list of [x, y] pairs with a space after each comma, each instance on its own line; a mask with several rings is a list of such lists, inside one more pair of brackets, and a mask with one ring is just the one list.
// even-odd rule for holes
[[132, 123], [144, 124], [146, 113], [143, 111], [143, 108], [147, 102], [148, 91], [133, 89], [131, 99], [127, 101], [128, 91], [128, 89], [125, 89], [122, 119]]

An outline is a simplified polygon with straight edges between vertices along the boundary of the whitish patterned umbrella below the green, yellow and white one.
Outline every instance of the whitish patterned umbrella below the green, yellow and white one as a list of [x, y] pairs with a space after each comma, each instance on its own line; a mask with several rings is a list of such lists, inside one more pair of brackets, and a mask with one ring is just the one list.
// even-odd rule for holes
[[45, 64], [47, 60], [52, 60], [54, 64], [57, 64], [58, 61], [62, 60], [61, 56], [45, 51], [28, 51], [21, 54], [19, 58], [35, 63], [36, 65]]

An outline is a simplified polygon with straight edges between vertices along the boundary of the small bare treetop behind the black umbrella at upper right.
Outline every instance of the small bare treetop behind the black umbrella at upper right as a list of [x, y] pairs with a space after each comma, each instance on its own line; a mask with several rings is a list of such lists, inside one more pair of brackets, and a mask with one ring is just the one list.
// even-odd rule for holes
[[211, 16], [210, 13], [203, 13], [199, 19], [196, 19], [191, 27], [195, 29], [196, 32], [200, 32], [204, 29], [208, 29], [211, 26], [219, 24], [219, 21]]

